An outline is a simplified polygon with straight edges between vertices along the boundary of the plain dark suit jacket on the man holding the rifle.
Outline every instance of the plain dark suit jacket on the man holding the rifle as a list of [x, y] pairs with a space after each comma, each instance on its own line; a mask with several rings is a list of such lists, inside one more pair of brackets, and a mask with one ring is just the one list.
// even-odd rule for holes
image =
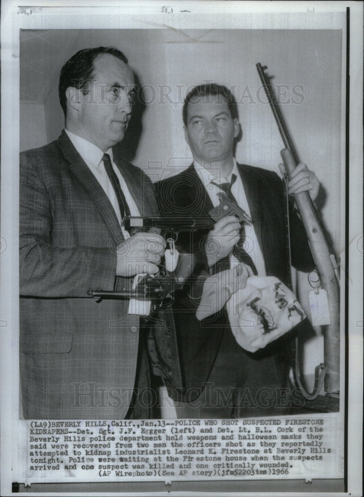
[[[267, 275], [276, 276], [283, 283], [288, 284], [290, 264], [282, 183], [275, 172], [266, 169], [246, 165], [238, 165], [238, 169], [264, 256]], [[207, 215], [213, 207], [193, 165], [180, 174], [157, 183], [156, 186], [160, 210], [164, 214]], [[289, 210], [292, 263], [301, 271], [310, 271], [313, 268], [313, 261], [303, 226], [292, 205]], [[203, 241], [207, 233], [208, 230], [201, 230], [189, 238], [181, 234], [176, 244], [180, 250], [193, 251], [198, 255], [199, 263], [196, 265], [194, 276], [198, 276], [206, 264]], [[229, 328], [229, 324], [224, 313], [199, 322], [194, 318], [194, 312], [195, 307], [191, 305], [187, 292], [183, 290], [176, 292], [174, 315], [184, 387], [186, 390], [198, 392], [201, 384], [207, 381], [223, 330]], [[263, 351], [257, 352], [257, 355], [276, 354], [281, 349], [282, 340], [276, 340]], [[189, 399], [192, 400], [191, 396]]]

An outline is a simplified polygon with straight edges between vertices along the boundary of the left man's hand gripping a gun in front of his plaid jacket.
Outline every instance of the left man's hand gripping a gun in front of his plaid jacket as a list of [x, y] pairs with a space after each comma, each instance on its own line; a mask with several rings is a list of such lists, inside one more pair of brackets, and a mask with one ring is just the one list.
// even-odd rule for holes
[[116, 276], [156, 274], [166, 242], [154, 233], [137, 233], [117, 247]]

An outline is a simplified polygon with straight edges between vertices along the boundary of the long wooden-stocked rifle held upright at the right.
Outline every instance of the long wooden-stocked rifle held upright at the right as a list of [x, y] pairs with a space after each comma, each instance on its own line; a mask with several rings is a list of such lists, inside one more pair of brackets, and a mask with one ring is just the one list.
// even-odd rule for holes
[[[280, 152], [288, 178], [292, 170], [299, 164], [297, 152], [289, 136], [283, 116], [280, 112], [278, 102], [275, 98], [270, 78], [265, 71], [267, 66], [258, 63], [256, 65], [259, 77], [263, 83], [268, 101], [270, 103], [274, 119], [278, 126], [282, 138], [284, 149]], [[315, 387], [312, 394], [305, 392], [300, 384], [297, 372], [293, 368], [295, 383], [300, 388], [304, 397], [313, 400], [318, 396], [320, 383], [325, 375], [325, 392], [329, 400], [338, 398], [340, 387], [339, 363], [340, 363], [340, 304], [339, 304], [339, 285], [336, 278], [335, 270], [337, 269], [336, 257], [328, 243], [326, 231], [323, 226], [313, 202], [308, 192], [294, 194], [295, 202], [300, 213], [308, 243], [311, 249], [312, 257], [319, 274], [321, 284], [326, 290], [330, 324], [324, 327], [324, 360], [325, 364], [320, 364], [315, 370]]]

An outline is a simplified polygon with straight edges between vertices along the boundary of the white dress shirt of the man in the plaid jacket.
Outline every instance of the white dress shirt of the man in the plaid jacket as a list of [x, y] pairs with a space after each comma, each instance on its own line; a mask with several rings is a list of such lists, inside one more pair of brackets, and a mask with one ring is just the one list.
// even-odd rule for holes
[[[87, 166], [90, 168], [92, 174], [95, 176], [95, 178], [99, 182], [103, 191], [106, 193], [106, 195], [107, 195], [108, 199], [110, 200], [111, 205], [115, 211], [116, 217], [121, 225], [121, 230], [122, 230], [122, 233], [124, 235], [124, 238], [128, 238], [130, 235], [121, 224], [120, 208], [119, 208], [119, 204], [117, 202], [115, 190], [112, 187], [111, 181], [107, 175], [105, 167], [103, 166], [102, 156], [104, 153], [102, 152], [102, 150], [100, 150], [98, 147], [96, 147], [96, 145], [89, 142], [85, 138], [81, 138], [80, 136], [75, 135], [74, 133], [72, 133], [68, 129], [66, 129], [65, 131], [66, 131], [69, 139], [71, 140], [73, 146], [75, 147], [77, 152], [80, 154], [80, 156], [83, 158], [83, 160], [85, 161]], [[126, 185], [125, 180], [124, 180], [119, 168], [114, 164], [112, 149], [110, 148], [105, 153], [110, 156], [112, 167], [113, 167], [113, 169], [116, 173], [116, 176], [119, 180], [120, 188], [121, 188], [122, 192], [124, 193], [126, 203], [128, 204], [128, 207], [130, 210], [130, 215], [131, 216], [140, 216], [138, 207], [136, 206], [136, 204], [134, 202], [134, 199], [129, 191], [129, 188]]]

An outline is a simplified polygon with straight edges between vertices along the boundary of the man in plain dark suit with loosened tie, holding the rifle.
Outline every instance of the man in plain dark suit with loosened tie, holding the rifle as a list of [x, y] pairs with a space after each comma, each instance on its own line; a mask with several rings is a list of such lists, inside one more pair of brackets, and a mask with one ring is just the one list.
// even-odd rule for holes
[[[219, 194], [229, 190], [253, 220], [252, 226], [245, 225], [244, 239], [235, 216], [220, 219], [210, 232], [199, 232], [198, 236], [196, 232], [189, 238], [180, 236], [178, 248], [195, 253], [198, 260], [194, 277], [216, 274], [240, 262], [250, 275], [275, 276], [289, 285], [282, 183], [274, 172], [237, 164], [233, 148], [240, 127], [233, 95], [215, 83], [194, 87], [184, 101], [183, 123], [193, 163], [158, 184], [161, 210], [179, 216], [208, 215], [219, 205]], [[315, 174], [300, 164], [288, 186], [290, 193], [309, 191], [315, 198], [319, 183]], [[290, 235], [294, 267], [310, 271], [312, 258], [292, 206]], [[197, 321], [196, 305], [198, 298], [191, 299], [188, 286], [176, 293], [174, 315], [184, 382], [178, 415], [242, 417], [287, 413], [289, 338], [282, 337], [255, 353], [248, 352], [237, 344], [226, 312]]]

